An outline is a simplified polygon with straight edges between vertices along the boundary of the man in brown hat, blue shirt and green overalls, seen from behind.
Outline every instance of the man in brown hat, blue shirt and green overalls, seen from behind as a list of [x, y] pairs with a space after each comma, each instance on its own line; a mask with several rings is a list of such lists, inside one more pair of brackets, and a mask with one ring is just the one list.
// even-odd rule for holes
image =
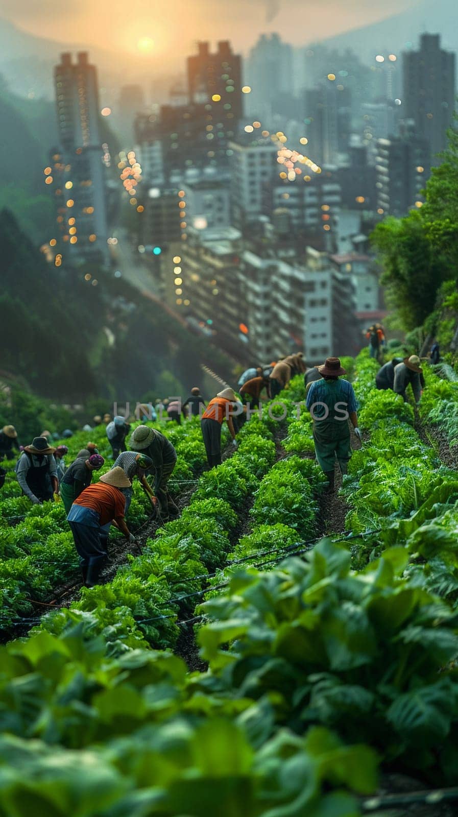
[[309, 388], [306, 406], [313, 417], [313, 441], [318, 464], [329, 482], [329, 491], [334, 490], [334, 466], [339, 463], [340, 472], [347, 473], [351, 457], [348, 418], [354, 426], [354, 433], [361, 440], [356, 413], [356, 398], [353, 386], [347, 380], [339, 380], [345, 374], [339, 358], [327, 358], [318, 366], [322, 379]]

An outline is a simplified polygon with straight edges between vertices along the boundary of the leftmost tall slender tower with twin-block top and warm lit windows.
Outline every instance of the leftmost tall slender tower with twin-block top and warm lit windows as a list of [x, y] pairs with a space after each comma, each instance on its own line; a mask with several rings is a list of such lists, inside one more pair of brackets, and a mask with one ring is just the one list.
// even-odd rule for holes
[[[54, 69], [60, 136], [63, 240], [75, 259], [109, 260], [104, 148], [97, 72], [86, 51], [62, 54]], [[61, 214], [60, 214], [61, 215]]]

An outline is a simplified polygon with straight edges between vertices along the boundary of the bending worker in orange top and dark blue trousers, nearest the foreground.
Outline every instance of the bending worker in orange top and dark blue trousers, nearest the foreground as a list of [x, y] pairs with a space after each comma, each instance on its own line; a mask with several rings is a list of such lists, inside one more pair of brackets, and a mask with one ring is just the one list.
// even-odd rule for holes
[[112, 522], [129, 542], [136, 541], [124, 521], [126, 499], [122, 489], [130, 487], [122, 468], [112, 468], [101, 475], [100, 482], [85, 488], [70, 508], [67, 520], [78, 551], [82, 580], [87, 587], [94, 587], [99, 578], [107, 556], [107, 535]]

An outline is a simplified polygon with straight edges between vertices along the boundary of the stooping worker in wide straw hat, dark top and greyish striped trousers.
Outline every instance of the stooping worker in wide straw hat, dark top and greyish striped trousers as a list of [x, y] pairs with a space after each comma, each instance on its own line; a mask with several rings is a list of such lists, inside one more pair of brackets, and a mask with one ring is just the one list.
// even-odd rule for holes
[[154, 496], [158, 499], [158, 511], [162, 520], [168, 519], [170, 514], [176, 515], [179, 509], [167, 489], [173, 469], [176, 466], [176, 450], [170, 440], [155, 428], [137, 426], [129, 441], [132, 451], [145, 454], [153, 460], [154, 469]]

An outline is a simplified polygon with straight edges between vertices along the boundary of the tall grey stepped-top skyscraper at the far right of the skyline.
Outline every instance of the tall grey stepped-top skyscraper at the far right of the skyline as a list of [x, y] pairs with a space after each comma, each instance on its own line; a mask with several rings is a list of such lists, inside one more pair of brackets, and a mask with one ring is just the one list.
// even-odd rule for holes
[[404, 116], [413, 119], [437, 163], [455, 109], [455, 54], [441, 48], [439, 34], [422, 34], [419, 50], [402, 54], [402, 74]]

